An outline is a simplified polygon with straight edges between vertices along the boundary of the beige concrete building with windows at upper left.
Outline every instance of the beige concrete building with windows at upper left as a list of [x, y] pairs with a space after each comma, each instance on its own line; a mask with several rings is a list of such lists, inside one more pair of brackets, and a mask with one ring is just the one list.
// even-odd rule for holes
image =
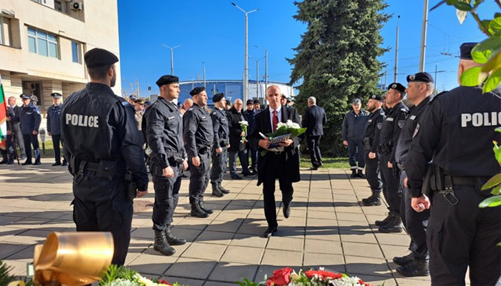
[[[53, 92], [64, 99], [85, 87], [89, 76], [83, 54], [94, 47], [120, 58], [116, 0], [0, 1], [0, 75], [6, 96], [32, 93], [45, 111]], [[120, 62], [116, 67], [119, 79]], [[113, 89], [120, 95], [120, 80]]]

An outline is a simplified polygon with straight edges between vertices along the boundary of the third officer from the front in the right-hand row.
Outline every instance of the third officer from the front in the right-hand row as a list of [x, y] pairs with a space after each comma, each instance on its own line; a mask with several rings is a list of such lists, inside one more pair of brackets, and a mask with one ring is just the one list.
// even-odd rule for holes
[[401, 190], [399, 188], [400, 175], [394, 168], [395, 145], [398, 135], [402, 130], [409, 108], [403, 104], [405, 87], [401, 83], [392, 83], [388, 86], [385, 96], [385, 121], [381, 129], [379, 142], [379, 164], [381, 167], [381, 179], [383, 181], [383, 195], [388, 203], [388, 216], [383, 221], [376, 221], [380, 232], [402, 232], [400, 217]]

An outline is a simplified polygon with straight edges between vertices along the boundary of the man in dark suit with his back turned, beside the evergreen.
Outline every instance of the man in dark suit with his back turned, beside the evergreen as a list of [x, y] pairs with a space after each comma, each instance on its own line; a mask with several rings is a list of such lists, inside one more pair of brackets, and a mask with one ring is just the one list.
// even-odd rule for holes
[[322, 166], [322, 155], [320, 153], [320, 139], [323, 135], [323, 124], [327, 123], [326, 111], [317, 105], [317, 98], [308, 98], [308, 109], [304, 112], [303, 126], [306, 127], [306, 140], [310, 149], [312, 167], [310, 170], [317, 170]]

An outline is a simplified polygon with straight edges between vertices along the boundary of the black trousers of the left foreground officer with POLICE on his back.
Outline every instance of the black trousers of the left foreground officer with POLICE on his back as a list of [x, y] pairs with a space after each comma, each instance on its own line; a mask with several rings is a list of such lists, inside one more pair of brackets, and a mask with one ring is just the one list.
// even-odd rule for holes
[[111, 263], [123, 265], [131, 241], [133, 206], [127, 199], [123, 176], [112, 181], [96, 177], [96, 172], [85, 172], [79, 183], [73, 182], [73, 220], [77, 232], [111, 232], [114, 254]]

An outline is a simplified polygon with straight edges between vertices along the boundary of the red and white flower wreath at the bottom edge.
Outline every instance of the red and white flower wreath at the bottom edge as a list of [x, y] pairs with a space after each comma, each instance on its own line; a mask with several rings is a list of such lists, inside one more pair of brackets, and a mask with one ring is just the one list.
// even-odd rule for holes
[[346, 274], [339, 274], [326, 271], [323, 267], [319, 270], [300, 270], [295, 272], [292, 268], [285, 267], [273, 272], [273, 276], [266, 278], [265, 282], [254, 283], [244, 279], [238, 281], [240, 286], [370, 286], [364, 283], [361, 278], [350, 277]]

